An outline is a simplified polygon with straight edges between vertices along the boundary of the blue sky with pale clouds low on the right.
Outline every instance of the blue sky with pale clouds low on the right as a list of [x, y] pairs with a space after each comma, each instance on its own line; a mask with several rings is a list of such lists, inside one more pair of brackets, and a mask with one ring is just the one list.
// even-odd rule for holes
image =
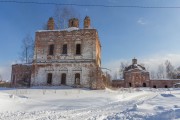
[[[17, 0], [23, 1], [23, 0]], [[33, 0], [28, 0], [33, 1]], [[35, 0], [34, 0], [35, 1]], [[179, 0], [38, 0], [39, 2], [127, 5], [127, 6], [180, 6]], [[180, 8], [73, 8], [84, 18], [91, 18], [102, 44], [102, 66], [116, 69], [120, 61], [133, 57], [150, 67], [169, 59], [180, 65]], [[0, 3], [0, 74], [10, 79], [10, 65], [18, 60], [21, 41], [42, 29], [54, 5]], [[83, 23], [80, 23], [81, 26]]]

